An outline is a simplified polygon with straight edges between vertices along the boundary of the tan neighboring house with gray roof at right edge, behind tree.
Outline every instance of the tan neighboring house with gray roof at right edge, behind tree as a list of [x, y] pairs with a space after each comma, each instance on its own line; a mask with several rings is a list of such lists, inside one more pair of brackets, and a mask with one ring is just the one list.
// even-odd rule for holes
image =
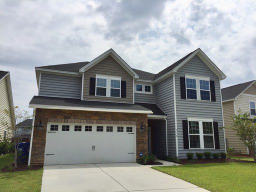
[[[236, 84], [221, 89], [224, 125], [232, 124], [231, 116], [242, 112], [250, 112], [251, 117], [256, 115], [256, 80]], [[234, 148], [236, 153], [248, 154], [248, 148], [230, 128], [225, 129], [226, 146]]]

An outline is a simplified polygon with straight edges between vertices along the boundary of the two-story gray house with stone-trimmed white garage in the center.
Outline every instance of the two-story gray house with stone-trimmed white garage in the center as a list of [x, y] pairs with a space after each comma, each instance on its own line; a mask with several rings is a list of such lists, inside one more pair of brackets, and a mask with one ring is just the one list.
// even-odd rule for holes
[[225, 151], [220, 80], [200, 48], [157, 74], [112, 49], [90, 62], [35, 67], [29, 164], [134, 162]]

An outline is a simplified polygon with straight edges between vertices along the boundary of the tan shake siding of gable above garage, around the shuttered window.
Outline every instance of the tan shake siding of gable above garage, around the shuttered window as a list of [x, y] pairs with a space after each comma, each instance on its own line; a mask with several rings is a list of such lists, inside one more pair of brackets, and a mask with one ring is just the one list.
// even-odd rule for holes
[[[121, 77], [121, 80], [126, 81], [126, 97], [114, 98], [89, 95], [89, 79], [95, 77], [95, 74]], [[82, 98], [83, 100], [133, 103], [133, 77], [109, 55], [84, 72]]]

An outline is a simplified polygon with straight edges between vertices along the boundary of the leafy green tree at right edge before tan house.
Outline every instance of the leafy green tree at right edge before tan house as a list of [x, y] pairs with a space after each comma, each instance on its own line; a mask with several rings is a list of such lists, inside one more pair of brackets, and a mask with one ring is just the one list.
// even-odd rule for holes
[[249, 112], [243, 113], [241, 110], [238, 110], [238, 114], [235, 114], [231, 118], [233, 120], [231, 126], [225, 128], [231, 128], [235, 131], [235, 135], [248, 147], [254, 162], [256, 162], [256, 117], [250, 118]]

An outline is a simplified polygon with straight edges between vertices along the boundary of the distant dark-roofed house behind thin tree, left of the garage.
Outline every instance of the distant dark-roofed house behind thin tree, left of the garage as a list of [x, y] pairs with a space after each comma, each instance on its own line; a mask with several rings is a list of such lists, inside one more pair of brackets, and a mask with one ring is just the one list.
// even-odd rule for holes
[[14, 137], [22, 137], [21, 142], [29, 142], [31, 137], [31, 130], [33, 119], [26, 119], [18, 124], [16, 124], [17, 130], [14, 133]]

